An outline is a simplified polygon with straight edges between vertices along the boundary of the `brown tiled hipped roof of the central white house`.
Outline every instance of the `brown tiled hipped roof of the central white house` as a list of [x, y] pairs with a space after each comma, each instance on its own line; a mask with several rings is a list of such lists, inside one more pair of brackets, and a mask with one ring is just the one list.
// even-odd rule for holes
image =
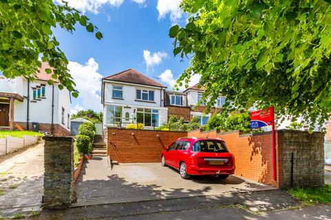
[[107, 76], [103, 79], [123, 82], [123, 83], [134, 83], [139, 85], [150, 85], [153, 87], [166, 88], [165, 85], [162, 85], [161, 83], [157, 83], [156, 81], [135, 71], [134, 69], [126, 69], [123, 72], [119, 72], [118, 74]]

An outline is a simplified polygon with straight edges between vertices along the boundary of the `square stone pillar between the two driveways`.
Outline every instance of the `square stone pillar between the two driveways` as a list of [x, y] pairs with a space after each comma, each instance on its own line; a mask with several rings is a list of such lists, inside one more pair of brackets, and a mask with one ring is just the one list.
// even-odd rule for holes
[[73, 144], [72, 137], [43, 137], [45, 140], [43, 177], [43, 207], [66, 208], [73, 196]]

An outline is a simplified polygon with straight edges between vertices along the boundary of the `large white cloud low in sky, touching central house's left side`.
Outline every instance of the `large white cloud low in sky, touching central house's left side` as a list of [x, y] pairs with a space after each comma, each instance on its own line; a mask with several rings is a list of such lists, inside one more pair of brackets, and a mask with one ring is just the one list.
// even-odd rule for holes
[[101, 74], [99, 74], [99, 64], [90, 58], [85, 65], [70, 61], [68, 69], [76, 89], [79, 91], [78, 103], [73, 111], [82, 109], [92, 109], [101, 111]]

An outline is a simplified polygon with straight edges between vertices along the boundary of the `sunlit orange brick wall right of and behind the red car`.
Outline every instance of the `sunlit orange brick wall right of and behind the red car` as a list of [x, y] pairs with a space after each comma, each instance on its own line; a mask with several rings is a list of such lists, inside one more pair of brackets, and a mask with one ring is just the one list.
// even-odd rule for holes
[[218, 133], [217, 130], [188, 133], [189, 137], [220, 137], [236, 159], [236, 175], [264, 184], [278, 186], [272, 181], [271, 133], [241, 135], [239, 131]]

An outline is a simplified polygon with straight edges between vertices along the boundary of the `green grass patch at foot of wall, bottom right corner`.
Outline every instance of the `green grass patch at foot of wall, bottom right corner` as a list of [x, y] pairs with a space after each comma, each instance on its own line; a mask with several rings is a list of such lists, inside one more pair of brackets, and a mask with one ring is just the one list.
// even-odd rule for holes
[[331, 184], [325, 184], [317, 188], [290, 188], [286, 191], [307, 205], [315, 203], [331, 204]]

